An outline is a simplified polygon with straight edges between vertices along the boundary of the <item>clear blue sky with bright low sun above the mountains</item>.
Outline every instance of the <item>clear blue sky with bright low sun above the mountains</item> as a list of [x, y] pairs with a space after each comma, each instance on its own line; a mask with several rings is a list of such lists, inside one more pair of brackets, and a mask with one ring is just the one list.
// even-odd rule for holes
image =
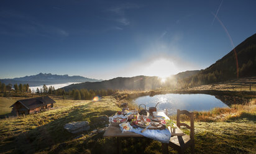
[[205, 69], [255, 34], [255, 6], [254, 0], [2, 0], [0, 78], [167, 77]]

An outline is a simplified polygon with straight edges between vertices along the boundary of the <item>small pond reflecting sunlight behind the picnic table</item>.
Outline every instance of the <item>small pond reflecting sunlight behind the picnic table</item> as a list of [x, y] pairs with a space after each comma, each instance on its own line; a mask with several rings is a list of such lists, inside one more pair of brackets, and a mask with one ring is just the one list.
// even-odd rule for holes
[[[214, 107], [228, 107], [224, 102], [208, 94], [158, 94], [142, 96], [135, 99], [136, 104], [145, 104], [147, 109], [157, 106], [157, 111], [168, 110], [168, 114], [176, 114], [177, 109], [187, 111], [209, 111]], [[144, 106], [142, 106], [144, 107]]]

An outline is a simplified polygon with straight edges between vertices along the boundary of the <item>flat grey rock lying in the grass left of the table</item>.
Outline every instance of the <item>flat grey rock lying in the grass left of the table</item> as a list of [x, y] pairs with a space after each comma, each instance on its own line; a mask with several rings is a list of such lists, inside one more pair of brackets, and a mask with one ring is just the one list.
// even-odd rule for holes
[[68, 132], [70, 133], [76, 134], [79, 132], [89, 130], [89, 122], [87, 121], [70, 122], [64, 125], [64, 129], [68, 130]]

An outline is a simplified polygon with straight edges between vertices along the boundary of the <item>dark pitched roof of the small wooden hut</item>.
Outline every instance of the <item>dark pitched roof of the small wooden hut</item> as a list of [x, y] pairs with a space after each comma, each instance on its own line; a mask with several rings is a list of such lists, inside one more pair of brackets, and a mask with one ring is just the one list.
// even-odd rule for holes
[[[21, 99], [17, 102], [20, 102], [27, 109], [32, 110], [37, 107], [45, 106], [47, 104], [52, 104], [55, 101], [53, 101], [48, 96], [42, 96], [42, 97], [34, 97], [34, 98], [30, 98], [30, 99]], [[14, 104], [16, 104], [17, 102], [15, 102]], [[14, 107], [14, 104], [12, 104], [12, 106], [10, 106], [10, 107]]]

